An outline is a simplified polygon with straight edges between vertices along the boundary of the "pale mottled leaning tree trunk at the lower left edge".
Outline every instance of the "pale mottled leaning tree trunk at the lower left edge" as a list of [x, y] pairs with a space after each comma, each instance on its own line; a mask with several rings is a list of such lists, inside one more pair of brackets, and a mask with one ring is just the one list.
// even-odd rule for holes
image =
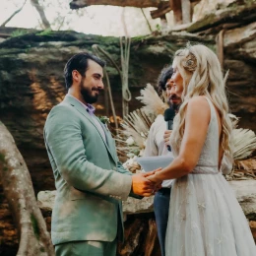
[[0, 177], [4, 194], [17, 225], [18, 256], [50, 256], [54, 249], [37, 206], [27, 165], [12, 135], [0, 122]]

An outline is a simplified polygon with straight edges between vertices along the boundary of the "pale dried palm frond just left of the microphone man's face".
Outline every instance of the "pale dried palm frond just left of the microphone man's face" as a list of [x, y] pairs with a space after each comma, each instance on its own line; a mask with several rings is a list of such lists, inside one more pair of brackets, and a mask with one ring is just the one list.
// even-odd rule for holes
[[163, 114], [164, 110], [168, 107], [167, 104], [163, 103], [160, 96], [151, 84], [147, 84], [144, 90], [141, 90], [141, 96], [137, 96], [137, 99], [141, 100], [145, 106], [142, 110], [148, 116], [153, 116], [155, 119], [159, 114]]

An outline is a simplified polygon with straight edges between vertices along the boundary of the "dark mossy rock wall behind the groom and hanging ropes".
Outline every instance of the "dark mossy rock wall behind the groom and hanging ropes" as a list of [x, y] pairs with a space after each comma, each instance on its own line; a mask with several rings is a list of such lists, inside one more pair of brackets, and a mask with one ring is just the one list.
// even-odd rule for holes
[[[129, 69], [133, 97], [130, 110], [141, 106], [135, 99], [140, 89], [146, 83], [156, 84], [163, 65], [170, 63], [173, 52], [190, 38], [166, 35], [133, 40]], [[213, 43], [210, 39], [205, 42]], [[120, 65], [119, 39], [115, 37], [78, 32], [37, 32], [13, 37], [0, 44], [0, 118], [11, 131], [29, 166], [35, 192], [54, 188], [42, 130], [47, 113], [66, 94], [62, 75], [64, 65], [73, 54], [92, 51], [94, 44], [102, 46]], [[107, 72], [115, 109], [121, 116], [120, 77], [110, 63]], [[105, 115], [107, 108], [104, 96], [101, 96], [96, 103], [96, 114]]]

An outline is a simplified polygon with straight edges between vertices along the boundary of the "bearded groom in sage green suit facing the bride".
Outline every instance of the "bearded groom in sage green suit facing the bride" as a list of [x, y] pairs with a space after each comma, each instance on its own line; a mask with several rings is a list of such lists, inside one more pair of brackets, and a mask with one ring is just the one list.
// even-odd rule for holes
[[57, 189], [51, 223], [57, 256], [115, 256], [117, 239], [123, 239], [121, 200], [155, 189], [146, 174], [122, 167], [110, 132], [94, 114], [104, 65], [90, 53], [67, 62], [68, 94], [44, 127]]

